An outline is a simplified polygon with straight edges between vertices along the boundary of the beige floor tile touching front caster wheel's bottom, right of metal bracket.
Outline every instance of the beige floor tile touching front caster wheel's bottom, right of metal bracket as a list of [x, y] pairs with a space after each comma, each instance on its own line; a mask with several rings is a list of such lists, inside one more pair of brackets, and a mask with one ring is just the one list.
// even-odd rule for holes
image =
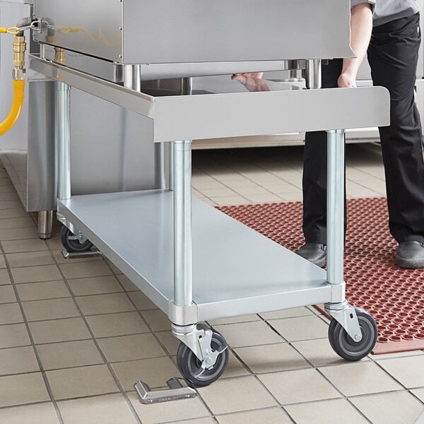
[[214, 414], [276, 406], [276, 401], [252, 376], [218, 379], [198, 391]]

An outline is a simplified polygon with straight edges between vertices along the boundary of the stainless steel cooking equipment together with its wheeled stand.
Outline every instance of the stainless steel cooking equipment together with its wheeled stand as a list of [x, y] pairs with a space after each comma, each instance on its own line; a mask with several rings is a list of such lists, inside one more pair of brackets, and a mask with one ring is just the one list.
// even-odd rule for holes
[[[320, 302], [333, 317], [334, 350], [348, 360], [367, 355], [377, 328], [367, 312], [348, 304], [343, 281], [343, 135], [346, 128], [387, 125], [389, 94], [379, 87], [318, 89], [317, 73], [319, 60], [351, 55], [350, 2], [35, 0], [35, 16], [42, 20], [35, 34], [41, 46], [30, 68], [57, 81], [61, 221], [88, 237], [167, 313], [181, 341], [182, 375], [207, 385], [228, 363], [223, 336], [199, 322]], [[288, 44], [274, 41], [288, 35]], [[65, 64], [49, 59], [47, 45], [65, 49]], [[107, 81], [122, 66], [124, 84]], [[269, 91], [249, 93], [224, 77], [221, 91], [222, 78], [213, 77], [192, 78], [181, 94], [187, 80], [179, 79], [177, 90], [146, 82], [297, 66], [307, 69], [315, 89], [269, 83]], [[163, 163], [162, 183], [163, 143], [169, 143], [170, 187], [71, 195], [70, 87], [144, 117], [151, 144], [161, 146], [148, 158]], [[327, 271], [192, 199], [192, 140], [322, 129], [329, 153]], [[146, 394], [146, 387], [137, 388]]]

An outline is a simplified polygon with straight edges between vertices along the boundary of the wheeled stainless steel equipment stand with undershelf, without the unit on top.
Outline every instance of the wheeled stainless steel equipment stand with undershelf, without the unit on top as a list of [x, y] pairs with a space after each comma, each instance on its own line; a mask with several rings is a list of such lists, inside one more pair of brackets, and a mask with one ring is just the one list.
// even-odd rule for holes
[[[189, 382], [210, 384], [228, 364], [225, 339], [202, 323], [210, 319], [324, 303], [334, 318], [329, 326], [334, 351], [348, 360], [359, 360], [371, 351], [377, 337], [375, 322], [345, 298], [344, 130], [331, 128], [338, 123], [346, 127], [387, 124], [387, 90], [372, 87], [153, 97], [42, 59], [34, 58], [32, 66], [60, 78], [59, 219], [86, 235], [167, 313], [172, 333], [181, 341], [177, 365]], [[153, 141], [170, 141], [172, 146], [170, 189], [71, 196], [71, 85], [152, 120]], [[319, 78], [314, 85], [319, 85]], [[313, 113], [323, 104], [324, 112]], [[348, 113], [352, 104], [361, 105], [358, 114]], [[309, 107], [306, 120], [301, 113], [305, 107]], [[327, 271], [192, 198], [190, 139], [225, 131], [250, 135], [317, 131], [322, 127], [328, 129]], [[154, 401], [155, 397], [163, 400], [172, 395], [161, 393], [148, 399]]]

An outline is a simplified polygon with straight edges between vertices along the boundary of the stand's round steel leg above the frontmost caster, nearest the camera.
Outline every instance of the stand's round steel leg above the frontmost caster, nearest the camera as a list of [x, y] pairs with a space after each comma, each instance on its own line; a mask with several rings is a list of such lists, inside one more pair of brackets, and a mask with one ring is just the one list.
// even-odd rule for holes
[[192, 141], [174, 141], [174, 303], [192, 305]]

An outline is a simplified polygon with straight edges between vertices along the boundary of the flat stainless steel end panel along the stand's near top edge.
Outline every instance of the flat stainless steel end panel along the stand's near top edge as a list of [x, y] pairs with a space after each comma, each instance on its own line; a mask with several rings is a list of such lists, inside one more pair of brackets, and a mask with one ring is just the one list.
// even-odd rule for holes
[[163, 97], [155, 98], [154, 120], [155, 141], [385, 126], [389, 92], [364, 87]]

